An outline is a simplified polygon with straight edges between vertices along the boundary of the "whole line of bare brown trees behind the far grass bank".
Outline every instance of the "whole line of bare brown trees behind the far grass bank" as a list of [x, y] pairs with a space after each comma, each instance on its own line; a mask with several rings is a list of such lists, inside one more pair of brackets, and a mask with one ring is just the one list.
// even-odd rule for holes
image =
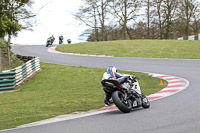
[[90, 41], [170, 39], [200, 32], [198, 0], [84, 1], [77, 17], [93, 29]]

